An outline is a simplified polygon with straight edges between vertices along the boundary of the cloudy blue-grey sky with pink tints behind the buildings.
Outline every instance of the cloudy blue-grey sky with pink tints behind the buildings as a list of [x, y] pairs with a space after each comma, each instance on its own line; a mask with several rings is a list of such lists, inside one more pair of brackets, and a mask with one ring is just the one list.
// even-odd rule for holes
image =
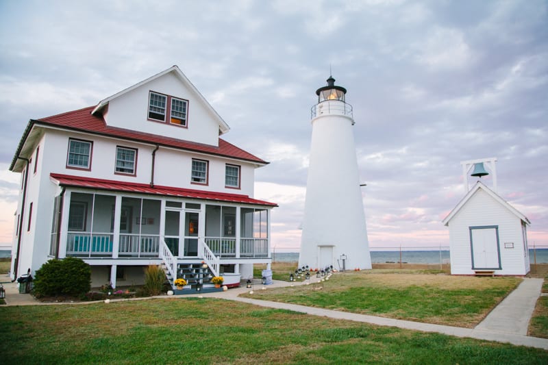
[[497, 158], [498, 193], [530, 219], [530, 245], [548, 247], [545, 0], [0, 0], [0, 49], [0, 247], [29, 119], [174, 64], [231, 127], [223, 138], [271, 162], [255, 197], [279, 204], [276, 251], [299, 249], [310, 108], [330, 72], [353, 106], [370, 247], [447, 247], [460, 162], [481, 158]]

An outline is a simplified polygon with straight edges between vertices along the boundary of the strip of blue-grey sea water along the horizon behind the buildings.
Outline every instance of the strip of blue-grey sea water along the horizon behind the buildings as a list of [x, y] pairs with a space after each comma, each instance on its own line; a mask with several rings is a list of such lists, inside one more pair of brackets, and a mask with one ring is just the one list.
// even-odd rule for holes
[[[530, 261], [534, 264], [536, 251], [536, 263], [548, 264], [548, 249], [530, 249]], [[401, 251], [401, 261], [409, 264], [443, 264], [449, 263], [449, 251]], [[297, 262], [298, 252], [277, 252], [272, 254], [273, 260], [277, 262]], [[371, 251], [371, 263], [384, 264], [386, 262], [399, 262], [399, 251]]]

